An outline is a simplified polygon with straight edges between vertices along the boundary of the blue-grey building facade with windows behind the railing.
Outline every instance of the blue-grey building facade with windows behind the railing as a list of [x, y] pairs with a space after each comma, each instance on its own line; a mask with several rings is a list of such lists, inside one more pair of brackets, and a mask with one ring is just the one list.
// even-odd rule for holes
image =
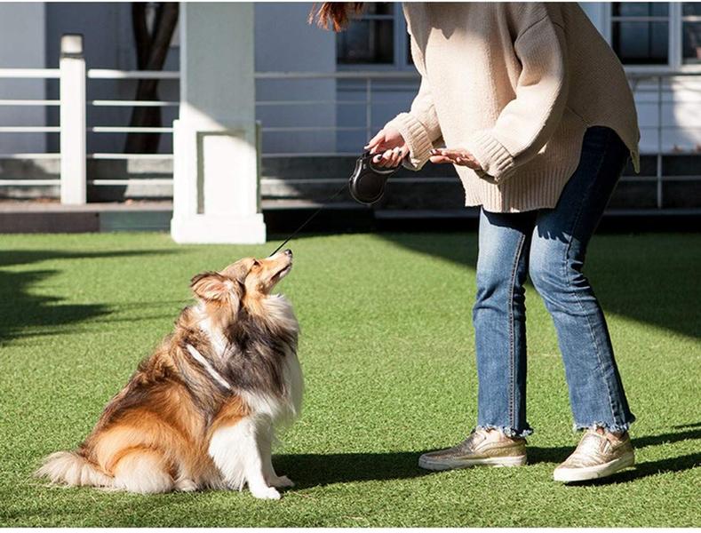
[[[366, 4], [360, 18], [339, 34], [308, 24], [312, 5], [254, 5], [256, 118], [268, 161], [299, 157], [311, 164], [315, 157], [355, 155], [388, 119], [410, 106], [418, 89], [401, 4]], [[698, 179], [701, 3], [580, 5], [630, 76], [643, 173], [647, 169], [650, 177], [657, 176], [657, 188], [670, 172]], [[57, 68], [65, 34], [84, 36], [89, 70], [128, 73], [137, 68], [129, 3], [0, 3], [0, 74], [12, 68]], [[180, 45], [176, 28], [164, 70], [179, 71]], [[221, 57], [226, 60], [226, 51]], [[136, 80], [88, 77], [87, 153], [119, 158], [126, 135], [120, 128], [131, 115], [131, 107], [119, 102], [134, 99]], [[0, 77], [0, 158], [58, 156], [59, 98], [57, 79]], [[179, 114], [177, 77], [159, 82], [159, 98], [164, 130], [157, 153], [167, 156], [172, 152], [167, 130]], [[20, 101], [26, 99], [46, 105]], [[53, 130], [37, 131], [42, 126]], [[167, 175], [167, 164], [161, 163], [161, 170]]]

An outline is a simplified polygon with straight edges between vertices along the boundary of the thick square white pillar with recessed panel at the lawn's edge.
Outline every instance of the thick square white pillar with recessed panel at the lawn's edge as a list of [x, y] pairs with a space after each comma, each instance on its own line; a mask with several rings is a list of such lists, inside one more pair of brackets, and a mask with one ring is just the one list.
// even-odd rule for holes
[[177, 243], [265, 243], [259, 209], [253, 4], [180, 4], [174, 121]]

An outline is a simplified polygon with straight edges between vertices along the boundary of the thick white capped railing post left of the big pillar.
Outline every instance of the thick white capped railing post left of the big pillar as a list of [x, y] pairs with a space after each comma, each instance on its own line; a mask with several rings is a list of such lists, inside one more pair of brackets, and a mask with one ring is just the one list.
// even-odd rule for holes
[[60, 40], [60, 201], [87, 201], [83, 36]]

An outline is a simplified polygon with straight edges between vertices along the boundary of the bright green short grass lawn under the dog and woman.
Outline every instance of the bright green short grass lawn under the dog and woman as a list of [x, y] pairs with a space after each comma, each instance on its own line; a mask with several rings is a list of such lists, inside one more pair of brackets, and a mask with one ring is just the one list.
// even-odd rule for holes
[[266, 246], [163, 234], [0, 237], [2, 526], [697, 526], [701, 519], [701, 235], [600, 235], [587, 273], [609, 317], [637, 467], [566, 487], [576, 444], [554, 328], [529, 287], [530, 464], [425, 474], [426, 449], [474, 425], [476, 235], [297, 239], [294, 303], [307, 392], [274, 457], [298, 482], [135, 496], [45, 486], [41, 457], [80, 442], [171, 330], [200, 271]]

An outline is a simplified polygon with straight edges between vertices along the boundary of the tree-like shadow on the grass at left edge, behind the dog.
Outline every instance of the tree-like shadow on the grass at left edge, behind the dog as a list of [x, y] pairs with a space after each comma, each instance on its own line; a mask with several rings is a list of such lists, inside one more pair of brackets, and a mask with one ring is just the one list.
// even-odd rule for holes
[[[0, 267], [26, 265], [52, 259], [103, 259], [138, 257], [171, 251], [0, 251]], [[58, 270], [8, 271], [0, 268], [0, 344], [15, 338], [45, 335], [54, 328], [63, 331], [92, 318], [108, 314], [103, 304], [62, 304], [63, 298], [32, 294], [32, 287]], [[37, 330], [36, 328], [42, 330]]]

